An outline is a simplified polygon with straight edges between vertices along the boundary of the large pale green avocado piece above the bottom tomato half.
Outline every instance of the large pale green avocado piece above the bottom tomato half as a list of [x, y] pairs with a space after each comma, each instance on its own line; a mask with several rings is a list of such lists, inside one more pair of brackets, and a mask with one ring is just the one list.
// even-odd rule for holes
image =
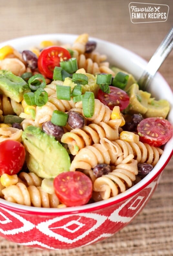
[[70, 157], [66, 149], [40, 128], [28, 126], [22, 134], [26, 150], [26, 164], [30, 172], [41, 178], [55, 178], [69, 171]]

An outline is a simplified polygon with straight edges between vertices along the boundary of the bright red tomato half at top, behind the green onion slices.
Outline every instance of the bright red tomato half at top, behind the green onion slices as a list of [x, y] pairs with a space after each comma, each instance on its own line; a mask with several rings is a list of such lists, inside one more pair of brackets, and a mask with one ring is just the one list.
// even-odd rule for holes
[[38, 69], [42, 75], [52, 79], [55, 66], [59, 67], [61, 61], [70, 58], [70, 53], [63, 47], [47, 47], [42, 50], [38, 57]]

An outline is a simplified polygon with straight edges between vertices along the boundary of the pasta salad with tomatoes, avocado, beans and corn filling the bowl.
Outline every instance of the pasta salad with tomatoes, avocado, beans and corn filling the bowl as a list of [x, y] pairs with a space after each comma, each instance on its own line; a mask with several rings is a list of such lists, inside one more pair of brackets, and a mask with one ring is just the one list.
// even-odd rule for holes
[[0, 197], [35, 207], [116, 196], [157, 164], [170, 104], [111, 66], [97, 43], [0, 49]]

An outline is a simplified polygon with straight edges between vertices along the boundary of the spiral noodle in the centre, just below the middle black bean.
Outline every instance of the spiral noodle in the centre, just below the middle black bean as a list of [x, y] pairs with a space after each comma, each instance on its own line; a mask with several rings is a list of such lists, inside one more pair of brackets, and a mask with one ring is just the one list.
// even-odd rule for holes
[[65, 133], [61, 138], [61, 142], [68, 144], [70, 153], [76, 155], [78, 150], [85, 146], [99, 143], [101, 138], [106, 137], [112, 141], [117, 140], [119, 138], [118, 128], [120, 124], [121, 119], [114, 119], [108, 123], [91, 123], [85, 125], [82, 129], [76, 128]]

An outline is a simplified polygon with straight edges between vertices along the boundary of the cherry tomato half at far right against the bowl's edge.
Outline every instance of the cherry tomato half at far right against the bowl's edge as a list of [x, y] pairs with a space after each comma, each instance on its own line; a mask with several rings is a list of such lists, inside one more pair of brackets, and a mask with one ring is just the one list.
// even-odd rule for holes
[[173, 134], [171, 123], [159, 117], [148, 117], [137, 125], [139, 140], [152, 146], [164, 145]]

